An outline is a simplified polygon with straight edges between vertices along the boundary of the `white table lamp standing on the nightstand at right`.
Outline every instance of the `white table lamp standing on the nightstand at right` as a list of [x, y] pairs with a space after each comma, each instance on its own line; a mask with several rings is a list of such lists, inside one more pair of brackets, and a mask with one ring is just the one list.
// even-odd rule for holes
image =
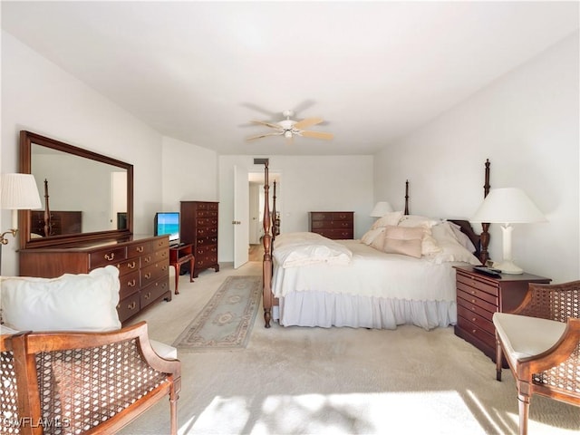
[[511, 233], [514, 227], [511, 224], [547, 221], [524, 191], [517, 188], [491, 189], [470, 220], [478, 223], [503, 224], [501, 231], [504, 257], [501, 262], [494, 262], [493, 266], [503, 274], [513, 275], [523, 274], [524, 270], [516, 266], [512, 258]]

